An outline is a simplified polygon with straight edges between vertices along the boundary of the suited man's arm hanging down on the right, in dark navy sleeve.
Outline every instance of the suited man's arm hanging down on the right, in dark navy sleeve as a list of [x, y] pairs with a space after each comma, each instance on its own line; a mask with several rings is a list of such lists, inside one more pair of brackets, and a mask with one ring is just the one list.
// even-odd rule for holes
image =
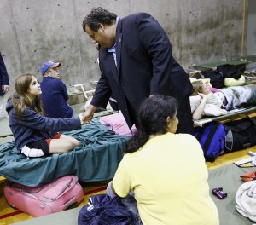
[[149, 14], [137, 14], [136, 28], [140, 43], [146, 49], [153, 65], [150, 95], [168, 95], [170, 88], [172, 89], [172, 81], [168, 74], [175, 70], [179, 73], [178, 79], [183, 83], [185, 72], [179, 72], [182, 67], [177, 63], [175, 63], [175, 69], [173, 68], [172, 45], [166, 32]]

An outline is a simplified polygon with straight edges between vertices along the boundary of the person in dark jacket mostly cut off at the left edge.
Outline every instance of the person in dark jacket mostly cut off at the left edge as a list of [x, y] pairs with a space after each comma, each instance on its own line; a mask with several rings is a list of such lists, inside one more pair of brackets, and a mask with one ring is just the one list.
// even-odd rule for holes
[[0, 52], [0, 118], [3, 118], [7, 113], [5, 112], [4, 97], [9, 91], [9, 78], [6, 67], [4, 65], [3, 57]]

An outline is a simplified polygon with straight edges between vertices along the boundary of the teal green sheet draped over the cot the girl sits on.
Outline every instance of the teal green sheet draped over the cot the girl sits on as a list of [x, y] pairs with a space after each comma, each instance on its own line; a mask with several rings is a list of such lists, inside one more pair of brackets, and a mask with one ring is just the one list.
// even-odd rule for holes
[[70, 153], [27, 159], [8, 142], [0, 146], [0, 175], [9, 181], [38, 187], [60, 176], [76, 175], [81, 182], [107, 181], [113, 178], [127, 136], [117, 136], [94, 118], [80, 130], [65, 132], [81, 141]]

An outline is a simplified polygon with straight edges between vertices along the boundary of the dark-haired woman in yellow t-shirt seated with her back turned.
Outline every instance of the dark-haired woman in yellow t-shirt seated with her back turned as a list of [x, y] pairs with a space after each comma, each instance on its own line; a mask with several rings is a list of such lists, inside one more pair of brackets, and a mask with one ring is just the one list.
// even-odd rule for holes
[[176, 134], [177, 101], [146, 99], [138, 124], [107, 193], [131, 198], [134, 191], [143, 224], [219, 224], [201, 145], [195, 136]]

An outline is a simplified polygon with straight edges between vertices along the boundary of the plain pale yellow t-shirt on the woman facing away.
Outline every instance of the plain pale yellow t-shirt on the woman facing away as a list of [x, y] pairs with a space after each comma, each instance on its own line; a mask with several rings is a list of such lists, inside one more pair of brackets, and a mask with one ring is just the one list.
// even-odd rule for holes
[[166, 133], [125, 154], [113, 187], [120, 197], [134, 190], [144, 225], [218, 225], [207, 178], [195, 137]]

